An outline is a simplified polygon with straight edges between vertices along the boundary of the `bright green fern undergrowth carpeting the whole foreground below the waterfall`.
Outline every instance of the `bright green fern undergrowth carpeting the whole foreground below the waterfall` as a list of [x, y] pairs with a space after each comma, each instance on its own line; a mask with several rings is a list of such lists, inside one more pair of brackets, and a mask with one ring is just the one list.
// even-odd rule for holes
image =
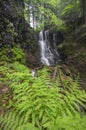
[[[86, 92], [79, 79], [50, 78], [44, 67], [32, 77], [30, 69], [19, 62], [0, 66], [0, 82], [12, 91], [9, 111], [0, 116], [0, 130], [85, 130]], [[63, 84], [62, 84], [63, 83]]]

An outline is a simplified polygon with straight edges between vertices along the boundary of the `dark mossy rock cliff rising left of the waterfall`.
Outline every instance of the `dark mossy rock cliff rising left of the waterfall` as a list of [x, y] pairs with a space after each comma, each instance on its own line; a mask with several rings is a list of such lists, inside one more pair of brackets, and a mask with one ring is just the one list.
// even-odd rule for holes
[[25, 21], [24, 0], [0, 0], [0, 48], [14, 46], [25, 50], [29, 67], [37, 64], [36, 32]]

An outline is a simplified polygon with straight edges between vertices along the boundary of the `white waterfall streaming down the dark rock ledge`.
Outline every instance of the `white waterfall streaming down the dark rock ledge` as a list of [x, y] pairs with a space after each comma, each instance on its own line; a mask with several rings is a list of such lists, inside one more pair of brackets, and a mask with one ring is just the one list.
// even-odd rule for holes
[[49, 30], [41, 31], [39, 33], [39, 45], [42, 64], [47, 66], [56, 65], [60, 59], [60, 55], [56, 49], [55, 35], [53, 34], [51, 43]]

